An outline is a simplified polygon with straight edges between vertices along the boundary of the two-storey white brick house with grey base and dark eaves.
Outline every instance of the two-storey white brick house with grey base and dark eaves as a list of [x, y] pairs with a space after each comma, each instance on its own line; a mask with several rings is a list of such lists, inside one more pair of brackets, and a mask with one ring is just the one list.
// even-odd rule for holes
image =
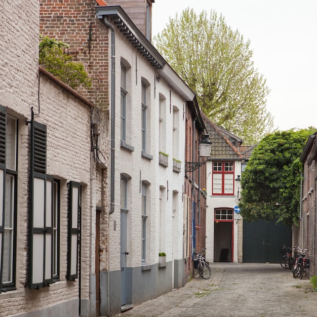
[[185, 111], [194, 94], [121, 7], [96, 12], [109, 26], [115, 55], [109, 186], [116, 194], [109, 270], [100, 271], [100, 313], [111, 315], [183, 286]]

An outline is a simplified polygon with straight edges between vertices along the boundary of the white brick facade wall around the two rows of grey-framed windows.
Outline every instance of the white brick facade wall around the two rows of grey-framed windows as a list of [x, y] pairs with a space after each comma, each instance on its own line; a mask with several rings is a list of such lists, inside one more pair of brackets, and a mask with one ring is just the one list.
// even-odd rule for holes
[[[175, 259], [182, 258], [182, 227], [183, 227], [183, 202], [182, 192], [184, 183], [184, 168], [181, 173], [173, 172], [173, 106], [179, 109], [179, 159], [184, 164], [184, 147], [185, 147], [185, 120], [183, 116], [185, 102], [174, 91], [171, 95], [171, 112], [170, 112], [170, 87], [161, 80], [158, 83], [155, 79], [157, 76], [155, 70], [149, 63], [139, 55], [131, 44], [120, 33], [116, 33], [115, 39], [116, 50], [116, 83], [120, 83], [121, 58], [127, 62], [131, 70], [128, 81], [131, 81], [132, 103], [132, 129], [127, 136], [127, 143], [134, 147], [134, 151], [120, 147], [120, 108], [116, 107], [115, 122], [115, 212], [110, 215], [109, 220], [109, 253], [111, 254], [110, 270], [120, 268], [120, 230], [114, 230], [114, 221], [116, 228], [120, 228], [120, 175], [124, 173], [131, 177], [131, 203], [128, 212], [128, 246], [129, 256], [127, 265], [137, 267], [141, 265], [141, 193], [140, 181], [145, 180], [150, 183], [151, 205], [150, 215], [147, 218], [147, 225], [150, 231], [147, 234], [147, 264], [157, 263], [159, 260], [159, 198], [160, 185], [168, 189], [168, 201], [166, 202], [166, 250], [167, 261], [172, 261], [172, 206], [173, 190], [178, 192], [178, 216], [176, 217], [177, 229], [174, 233]], [[137, 60], [137, 61], [136, 61]], [[150, 150], [146, 152], [153, 156], [153, 160], [145, 159], [141, 156], [141, 78], [145, 78], [150, 83], [150, 100], [147, 111], [150, 111]], [[166, 121], [167, 121], [167, 140], [166, 152], [169, 154], [169, 166], [164, 168], [159, 165], [159, 94], [166, 97]], [[120, 105], [120, 85], [116, 86], [116, 104]], [[110, 114], [111, 115], [111, 114]], [[131, 141], [129, 141], [131, 140]], [[167, 188], [167, 182], [169, 187]]]

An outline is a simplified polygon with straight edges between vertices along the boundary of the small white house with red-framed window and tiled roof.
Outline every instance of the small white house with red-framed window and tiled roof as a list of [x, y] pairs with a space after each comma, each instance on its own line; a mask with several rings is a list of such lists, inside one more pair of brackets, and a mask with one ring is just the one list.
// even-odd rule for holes
[[239, 179], [245, 160], [242, 140], [212, 123], [203, 115], [213, 142], [207, 162], [206, 259], [210, 262], [242, 262], [243, 219]]

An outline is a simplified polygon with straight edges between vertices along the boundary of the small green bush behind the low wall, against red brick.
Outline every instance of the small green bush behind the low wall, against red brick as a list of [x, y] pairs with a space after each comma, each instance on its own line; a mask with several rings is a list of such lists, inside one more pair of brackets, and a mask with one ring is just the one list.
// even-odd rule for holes
[[73, 62], [72, 56], [66, 53], [69, 45], [48, 36], [41, 39], [38, 51], [40, 65], [72, 89], [81, 84], [91, 87], [91, 79], [83, 63]]

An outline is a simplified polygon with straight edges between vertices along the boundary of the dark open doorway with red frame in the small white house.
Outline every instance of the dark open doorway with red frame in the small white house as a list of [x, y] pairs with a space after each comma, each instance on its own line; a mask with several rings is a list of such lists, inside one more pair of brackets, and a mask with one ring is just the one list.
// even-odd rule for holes
[[233, 221], [215, 221], [214, 261], [232, 262]]

